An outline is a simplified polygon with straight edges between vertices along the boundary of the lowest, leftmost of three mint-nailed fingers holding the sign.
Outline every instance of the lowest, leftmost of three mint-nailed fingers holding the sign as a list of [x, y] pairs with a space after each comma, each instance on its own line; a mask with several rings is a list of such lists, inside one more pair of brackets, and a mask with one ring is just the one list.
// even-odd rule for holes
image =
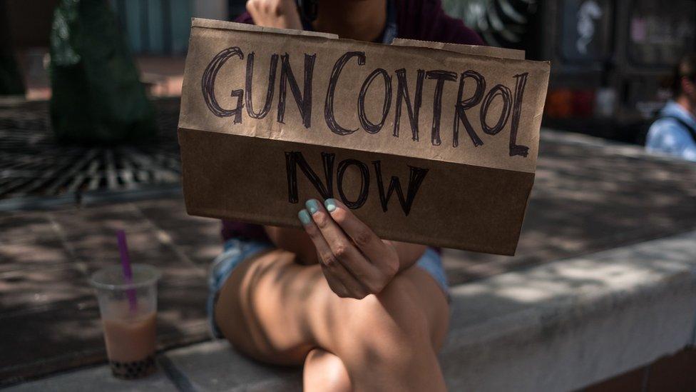
[[[319, 261], [322, 264], [322, 271], [324, 271], [324, 276], [327, 277], [327, 282], [329, 283], [329, 287], [332, 288], [332, 291], [337, 293], [339, 296], [342, 296], [342, 292], [339, 291], [345, 291], [345, 295], [343, 296], [348, 296], [351, 298], [361, 299], [364, 298], [364, 296], [367, 296], [367, 289], [364, 288], [362, 283], [357, 281], [357, 279], [352, 276], [349, 271], [347, 271], [342, 263], [338, 261], [336, 256], [334, 256], [329, 244], [324, 236], [322, 236], [322, 232], [319, 231], [317, 225], [314, 223], [314, 221], [312, 221], [312, 218], [309, 216], [307, 210], [300, 211], [298, 216], [300, 217], [302, 226], [304, 226], [305, 231], [307, 231], [307, 235], [309, 235], [309, 238], [312, 239], [314, 247], [317, 248]], [[334, 289], [334, 286], [337, 288], [342, 286], [344, 290], [339, 289], [337, 291]]]

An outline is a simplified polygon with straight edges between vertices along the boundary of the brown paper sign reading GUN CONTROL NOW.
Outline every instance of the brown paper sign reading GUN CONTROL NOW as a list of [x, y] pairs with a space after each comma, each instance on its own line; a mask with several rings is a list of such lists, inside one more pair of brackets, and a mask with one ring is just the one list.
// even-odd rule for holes
[[514, 254], [549, 64], [438, 44], [193, 19], [188, 213], [300, 227], [307, 199], [333, 197], [382, 238]]

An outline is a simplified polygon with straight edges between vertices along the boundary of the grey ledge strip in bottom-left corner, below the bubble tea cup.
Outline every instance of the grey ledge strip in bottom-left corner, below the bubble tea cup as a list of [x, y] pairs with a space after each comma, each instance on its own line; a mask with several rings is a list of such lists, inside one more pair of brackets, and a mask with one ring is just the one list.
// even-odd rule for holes
[[139, 380], [120, 380], [111, 376], [111, 369], [109, 369], [108, 366], [98, 366], [96, 368], [87, 368], [44, 378], [42, 380], [19, 384], [18, 386], [11, 386], [7, 388], [6, 391], [149, 392], [177, 391], [177, 388], [161, 370]]

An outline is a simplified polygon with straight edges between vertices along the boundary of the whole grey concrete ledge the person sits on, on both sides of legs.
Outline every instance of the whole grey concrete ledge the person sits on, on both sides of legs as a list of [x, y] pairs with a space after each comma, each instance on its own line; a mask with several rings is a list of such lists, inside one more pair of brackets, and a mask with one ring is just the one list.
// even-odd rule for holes
[[[452, 299], [451, 330], [440, 355], [451, 391], [582, 388], [695, 344], [696, 231], [456, 286]], [[225, 341], [169, 351], [160, 365], [170, 383], [153, 378], [143, 387], [302, 386], [299, 370], [260, 365]], [[103, 369], [19, 388], [79, 390], [73, 387], [81, 373], [87, 383], [111, 383]]]

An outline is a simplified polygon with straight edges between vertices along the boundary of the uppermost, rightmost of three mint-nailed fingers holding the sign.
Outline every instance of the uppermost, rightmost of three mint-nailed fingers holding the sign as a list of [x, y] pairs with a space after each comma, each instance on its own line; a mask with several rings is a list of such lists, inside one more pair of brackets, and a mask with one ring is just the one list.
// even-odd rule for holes
[[369, 261], [379, 268], [382, 266], [379, 261], [394, 258], [394, 254], [391, 253], [393, 249], [386, 246], [382, 238], [355, 216], [344, 203], [334, 198], [327, 198], [324, 203], [334, 222], [352, 239]]

